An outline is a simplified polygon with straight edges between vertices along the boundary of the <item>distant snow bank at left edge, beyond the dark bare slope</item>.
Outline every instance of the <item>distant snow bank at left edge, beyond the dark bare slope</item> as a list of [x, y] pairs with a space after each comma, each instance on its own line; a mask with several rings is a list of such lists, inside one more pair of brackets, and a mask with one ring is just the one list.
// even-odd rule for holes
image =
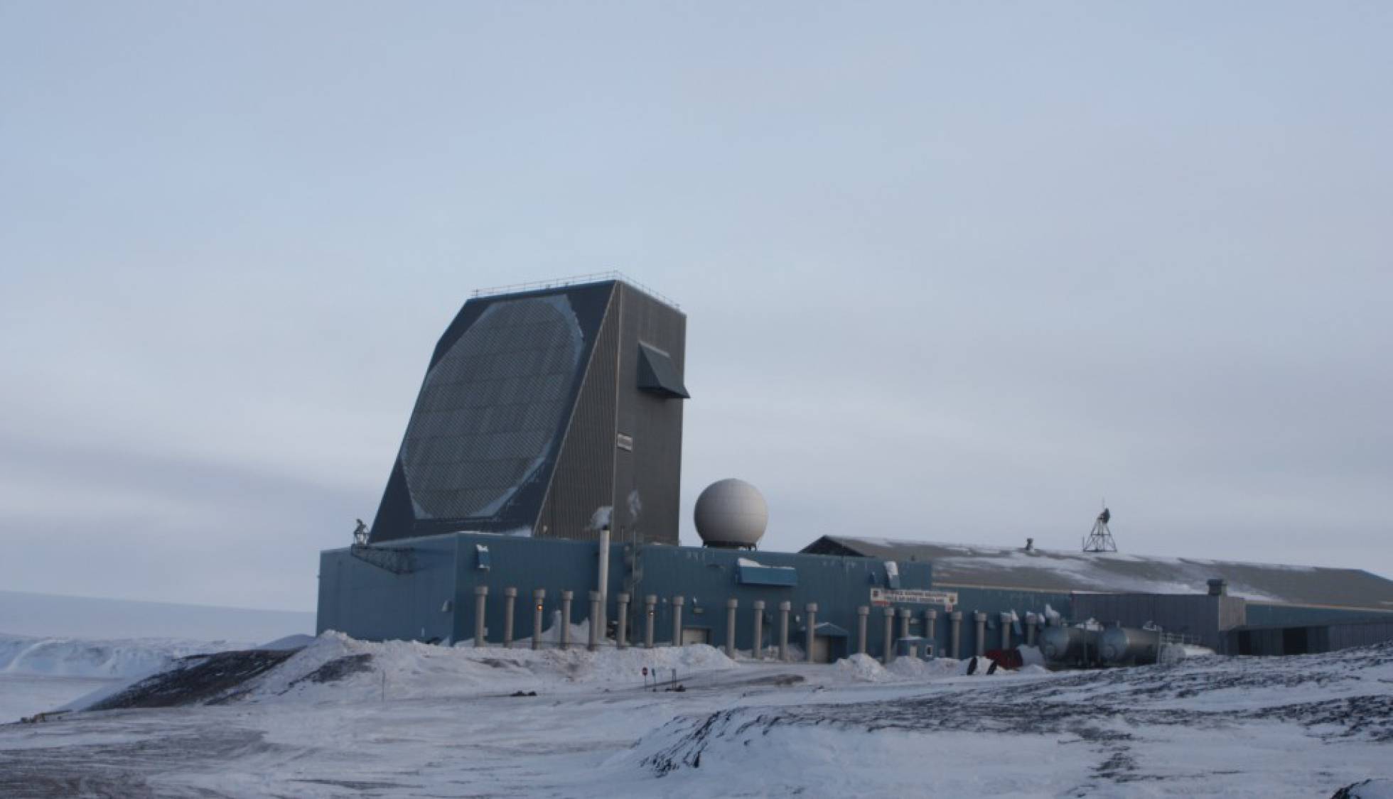
[[0, 674], [130, 679], [169, 668], [180, 657], [247, 646], [226, 640], [85, 640], [0, 635]]

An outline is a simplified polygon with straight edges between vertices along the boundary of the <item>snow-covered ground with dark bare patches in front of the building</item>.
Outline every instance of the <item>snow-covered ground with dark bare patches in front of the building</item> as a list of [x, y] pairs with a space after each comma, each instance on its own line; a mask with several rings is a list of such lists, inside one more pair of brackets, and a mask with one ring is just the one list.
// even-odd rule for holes
[[1330, 796], [1393, 777], [1393, 644], [986, 677], [326, 633], [256, 668], [196, 706], [0, 727], [0, 796]]

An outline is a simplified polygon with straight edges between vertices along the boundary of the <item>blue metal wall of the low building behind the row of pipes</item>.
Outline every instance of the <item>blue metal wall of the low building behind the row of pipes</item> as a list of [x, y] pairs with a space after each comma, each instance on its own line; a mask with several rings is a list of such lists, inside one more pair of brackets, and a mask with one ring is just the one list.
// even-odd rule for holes
[[[329, 550], [320, 557], [319, 631], [337, 629], [364, 639], [414, 639], [457, 642], [474, 636], [475, 586], [488, 586], [486, 639], [503, 640], [503, 589], [518, 590], [514, 607], [514, 639], [532, 635], [532, 590], [546, 589], [546, 626], [561, 607], [561, 592], [574, 592], [571, 624], [589, 615], [588, 593], [598, 579], [596, 544], [559, 539], [525, 539], [457, 533], [400, 541], [414, 551], [417, 571], [394, 575], [351, 555], [350, 550]], [[488, 547], [486, 564], [479, 546]], [[765, 567], [797, 569], [791, 587], [742, 585], [740, 558]], [[486, 568], [483, 568], [486, 565]], [[933, 589], [931, 564], [898, 562], [901, 589]], [[630, 642], [642, 642], [644, 596], [656, 594], [655, 642], [671, 642], [674, 596], [684, 597], [683, 626], [706, 631], [713, 646], [726, 640], [726, 600], [736, 599], [736, 646], [754, 647], [754, 601], [765, 601], [763, 644], [777, 643], [779, 603], [790, 601], [790, 642], [801, 644], [805, 607], [818, 603], [818, 622], [832, 622], [847, 638], [833, 646], [833, 654], [848, 654], [857, 646], [857, 608], [871, 606], [871, 589], [889, 587], [885, 561], [854, 557], [804, 555], [790, 553], [748, 553], [662, 544], [613, 544], [610, 547], [607, 618], [617, 614], [617, 596], [632, 596], [628, 618]], [[1011, 592], [996, 589], [947, 587], [958, 594], [963, 611], [961, 653], [975, 651], [974, 611], [986, 611], [983, 649], [1000, 642], [1000, 611], [1042, 612], [1046, 603], [1068, 615], [1068, 594]], [[910, 632], [924, 635], [924, 611], [936, 607], [905, 604], [912, 611]], [[939, 607], [935, 629], [937, 651], [950, 651], [949, 614]], [[894, 619], [893, 638], [900, 621]], [[868, 651], [883, 654], [885, 614], [871, 607]], [[1013, 632], [1013, 640], [1020, 636]], [[584, 643], [584, 642], [579, 642]]]

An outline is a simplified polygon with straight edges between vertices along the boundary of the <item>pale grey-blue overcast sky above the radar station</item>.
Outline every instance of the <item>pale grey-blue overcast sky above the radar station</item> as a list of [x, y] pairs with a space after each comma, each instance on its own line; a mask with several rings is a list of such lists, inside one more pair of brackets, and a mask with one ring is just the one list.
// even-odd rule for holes
[[825, 533], [1393, 575], [1393, 6], [0, 0], [0, 589], [311, 610], [475, 288]]

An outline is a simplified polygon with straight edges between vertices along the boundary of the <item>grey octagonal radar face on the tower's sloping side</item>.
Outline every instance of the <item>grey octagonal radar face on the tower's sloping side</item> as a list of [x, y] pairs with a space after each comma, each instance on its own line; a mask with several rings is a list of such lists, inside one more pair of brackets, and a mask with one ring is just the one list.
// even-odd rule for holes
[[584, 349], [566, 295], [495, 302], [469, 326], [426, 374], [401, 444], [418, 518], [499, 512], [552, 454]]

